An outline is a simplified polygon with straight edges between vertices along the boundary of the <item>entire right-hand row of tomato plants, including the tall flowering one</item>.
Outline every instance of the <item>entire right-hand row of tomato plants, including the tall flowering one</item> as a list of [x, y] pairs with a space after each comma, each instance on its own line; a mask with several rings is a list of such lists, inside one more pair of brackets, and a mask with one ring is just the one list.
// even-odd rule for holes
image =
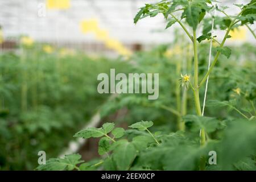
[[[159, 73], [159, 99], [149, 101], [143, 94], [121, 94], [103, 105], [101, 114], [129, 108], [129, 114], [122, 119], [130, 122], [129, 129], [108, 122], [73, 136], [101, 138], [101, 159], [84, 162], [79, 154], [71, 154], [49, 159], [36, 169], [255, 170], [255, 46], [226, 47], [225, 42], [234, 28], [254, 23], [256, 2], [236, 5], [241, 9], [236, 15], [226, 14], [227, 7], [215, 3], [218, 2], [163, 0], [142, 7], [135, 23], [163, 14], [168, 20], [166, 28], [177, 23], [186, 36], [176, 35], [179, 46], [176, 48], [174, 43], [172, 52], [179, 52], [178, 55], [167, 57], [168, 46], [160, 46], [131, 58], [135, 62], [133, 72]], [[225, 31], [222, 39], [211, 34], [213, 17], [205, 16], [213, 10], [225, 15], [215, 16], [212, 26]], [[200, 26], [203, 35], [199, 36]], [[207, 39], [215, 43], [209, 69], [209, 44], [203, 43]], [[203, 114], [201, 105], [208, 76]], [[217, 155], [217, 162], [209, 160], [212, 152]]]

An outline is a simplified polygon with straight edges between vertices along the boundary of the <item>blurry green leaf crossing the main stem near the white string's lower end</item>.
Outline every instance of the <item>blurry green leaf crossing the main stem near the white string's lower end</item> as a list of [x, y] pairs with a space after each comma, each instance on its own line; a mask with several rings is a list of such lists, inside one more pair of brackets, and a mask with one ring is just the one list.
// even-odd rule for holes
[[215, 118], [203, 117], [198, 115], [185, 115], [183, 117], [187, 125], [190, 125], [191, 131], [198, 132], [200, 129], [205, 129], [208, 133], [215, 131], [218, 128], [219, 121]]

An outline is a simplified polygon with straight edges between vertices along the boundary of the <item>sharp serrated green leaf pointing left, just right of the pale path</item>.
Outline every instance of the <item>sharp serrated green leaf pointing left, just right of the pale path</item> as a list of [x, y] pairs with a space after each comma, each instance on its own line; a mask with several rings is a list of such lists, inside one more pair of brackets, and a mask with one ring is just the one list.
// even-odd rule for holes
[[102, 137], [105, 134], [105, 131], [100, 128], [96, 129], [95, 127], [89, 127], [85, 130], [77, 132], [73, 137], [80, 137], [80, 138], [90, 138], [90, 137]]

